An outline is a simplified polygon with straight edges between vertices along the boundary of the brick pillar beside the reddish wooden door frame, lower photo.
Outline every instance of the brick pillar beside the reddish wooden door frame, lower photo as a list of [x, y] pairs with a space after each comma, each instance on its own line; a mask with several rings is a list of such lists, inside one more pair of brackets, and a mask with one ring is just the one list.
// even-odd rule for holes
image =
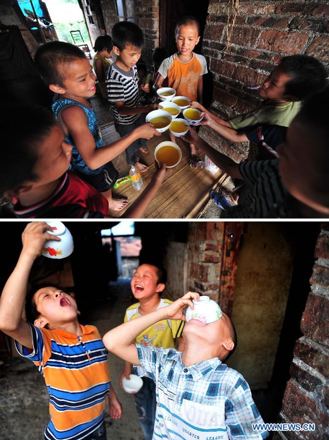
[[223, 222], [189, 223], [188, 289], [208, 295], [216, 302], [219, 300], [223, 240]]

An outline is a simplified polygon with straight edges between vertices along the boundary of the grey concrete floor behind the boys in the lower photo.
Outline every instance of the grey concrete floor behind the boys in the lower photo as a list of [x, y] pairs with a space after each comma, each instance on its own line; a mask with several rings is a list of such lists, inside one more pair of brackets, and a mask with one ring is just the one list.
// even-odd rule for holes
[[[129, 280], [119, 280], [109, 288], [109, 299], [99, 303], [88, 323], [101, 335], [123, 322], [125, 309], [131, 304]], [[136, 415], [134, 397], [120, 389], [118, 380], [123, 361], [109, 354], [111, 383], [122, 404], [121, 419], [105, 416], [107, 439], [143, 440]], [[48, 393], [42, 375], [32, 362], [14, 358], [10, 367], [0, 370], [0, 439], [43, 440], [48, 421]], [[106, 411], [108, 408], [106, 409]]]

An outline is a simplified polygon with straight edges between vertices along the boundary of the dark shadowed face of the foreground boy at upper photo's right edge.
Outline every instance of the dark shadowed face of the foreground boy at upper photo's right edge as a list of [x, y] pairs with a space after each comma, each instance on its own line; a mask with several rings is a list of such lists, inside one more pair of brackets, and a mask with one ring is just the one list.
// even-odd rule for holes
[[315, 211], [329, 214], [329, 195], [323, 189], [328, 176], [320, 170], [325, 142], [323, 133], [296, 116], [277, 151], [279, 172], [288, 192]]

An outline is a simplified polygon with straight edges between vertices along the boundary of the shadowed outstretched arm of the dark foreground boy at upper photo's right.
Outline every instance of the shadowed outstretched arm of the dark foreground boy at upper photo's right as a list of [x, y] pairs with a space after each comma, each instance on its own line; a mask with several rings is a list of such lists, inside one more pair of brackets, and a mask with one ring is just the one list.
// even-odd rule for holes
[[218, 168], [224, 171], [224, 173], [227, 173], [229, 176], [236, 177], [238, 179], [243, 179], [241, 173], [239, 172], [239, 164], [225, 154], [222, 154], [212, 148], [209, 144], [207, 144], [206, 141], [201, 139], [195, 130], [192, 130], [190, 127], [188, 127], [188, 133], [185, 136], [182, 136], [182, 139], [190, 144], [194, 144], [196, 147], [199, 147], [200, 150], [207, 154], [207, 156], [215, 165], [217, 165]]

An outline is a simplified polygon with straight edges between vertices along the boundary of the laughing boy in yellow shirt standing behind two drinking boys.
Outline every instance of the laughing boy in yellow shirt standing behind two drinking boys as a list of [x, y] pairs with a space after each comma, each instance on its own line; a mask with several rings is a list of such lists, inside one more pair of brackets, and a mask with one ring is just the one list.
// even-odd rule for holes
[[[166, 283], [166, 272], [164, 268], [154, 264], [141, 264], [135, 271], [131, 280], [131, 290], [138, 303], [128, 307], [124, 316], [124, 322], [135, 320], [139, 316], [152, 313], [155, 310], [167, 307], [172, 301], [160, 298]], [[135, 342], [145, 347], [162, 347], [164, 349], [174, 348], [175, 339], [178, 339], [182, 348], [182, 321], [171, 321], [170, 319], [159, 319], [152, 323], [147, 329], [136, 335]], [[184, 344], [184, 343], [183, 343]], [[120, 377], [129, 379], [131, 373], [131, 362], [126, 360], [124, 370]], [[136, 409], [141, 422], [145, 440], [151, 440], [156, 413], [156, 386], [152, 378], [143, 377], [143, 386], [135, 394]]]

